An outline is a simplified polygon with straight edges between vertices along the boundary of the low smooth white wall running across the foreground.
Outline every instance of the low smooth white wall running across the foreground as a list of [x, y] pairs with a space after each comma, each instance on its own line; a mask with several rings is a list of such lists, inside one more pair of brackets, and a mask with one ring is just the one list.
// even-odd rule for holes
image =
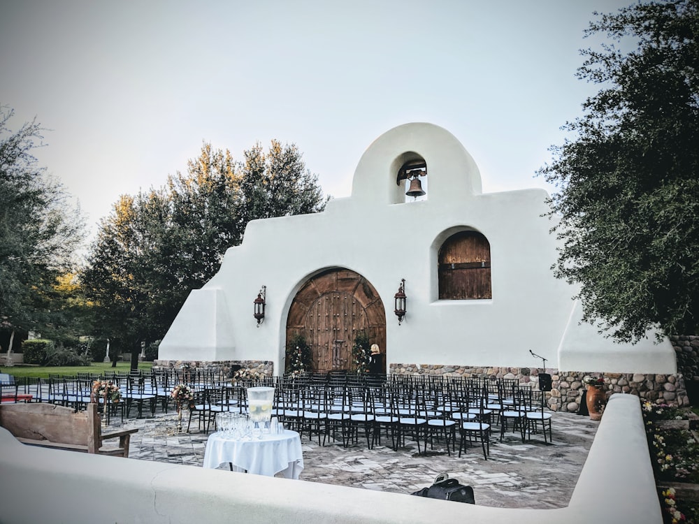
[[[555, 428], [554, 415], [554, 428]], [[612, 395], [570, 505], [500, 509], [130, 458], [33, 448], [0, 428], [0, 522], [661, 523], [640, 402]], [[618, 474], [624, 472], [624, 481]], [[572, 481], [573, 479], [571, 479]], [[476, 490], [476, 502], [477, 502]]]

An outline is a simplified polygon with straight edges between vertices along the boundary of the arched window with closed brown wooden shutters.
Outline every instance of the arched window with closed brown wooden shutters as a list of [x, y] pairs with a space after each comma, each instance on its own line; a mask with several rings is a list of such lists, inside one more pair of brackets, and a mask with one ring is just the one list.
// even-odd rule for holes
[[440, 300], [493, 298], [490, 243], [477, 231], [459, 231], [445, 240], [438, 258]]

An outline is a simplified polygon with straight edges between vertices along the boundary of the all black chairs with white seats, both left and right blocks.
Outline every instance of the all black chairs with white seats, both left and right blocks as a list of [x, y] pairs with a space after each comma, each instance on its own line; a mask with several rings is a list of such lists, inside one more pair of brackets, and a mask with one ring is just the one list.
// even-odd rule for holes
[[419, 452], [442, 441], [451, 454], [458, 435], [459, 454], [466, 445], [478, 444], [487, 458], [494, 425], [500, 427], [500, 439], [507, 431], [519, 432], [523, 442], [538, 432], [545, 442], [552, 437], [551, 413], [545, 409], [542, 392], [507, 379], [307, 373], [231, 384], [217, 370], [185, 368], [51, 376], [45, 382], [18, 379], [0, 384], [0, 391], [3, 397], [12, 395], [15, 402], [53, 402], [83, 409], [94, 380], [120, 387], [121, 402], [108, 401], [106, 414], [108, 418], [120, 415], [122, 420], [134, 406], [139, 417], [145, 409], [153, 416], [158, 404], [167, 412], [171, 389], [177, 384], [191, 386], [196, 396], [187, 430], [196, 419], [199, 429], [209, 432], [216, 428], [218, 412], [246, 412], [247, 387], [272, 386], [274, 415], [302, 435], [317, 437], [319, 445], [332, 438], [349, 446], [362, 435], [368, 447], [385, 438], [398, 449], [410, 437]]

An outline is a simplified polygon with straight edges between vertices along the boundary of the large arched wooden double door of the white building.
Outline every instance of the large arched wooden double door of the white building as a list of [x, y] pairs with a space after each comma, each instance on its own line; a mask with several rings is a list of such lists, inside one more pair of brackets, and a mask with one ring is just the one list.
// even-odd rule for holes
[[352, 345], [365, 332], [386, 347], [386, 314], [374, 287], [343, 268], [326, 270], [298, 290], [287, 317], [287, 340], [301, 334], [311, 348], [314, 372], [354, 371]]

